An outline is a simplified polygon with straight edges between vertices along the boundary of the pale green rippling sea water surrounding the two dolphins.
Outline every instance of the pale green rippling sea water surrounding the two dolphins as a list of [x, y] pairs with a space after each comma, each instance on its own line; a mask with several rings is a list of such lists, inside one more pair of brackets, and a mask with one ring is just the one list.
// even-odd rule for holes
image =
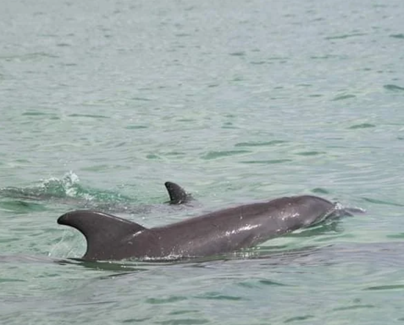
[[[2, 3], [0, 323], [402, 324], [403, 10]], [[165, 180], [198, 205], [161, 204]], [[155, 226], [302, 193], [368, 213], [184, 263], [71, 260], [56, 224], [78, 199]]]

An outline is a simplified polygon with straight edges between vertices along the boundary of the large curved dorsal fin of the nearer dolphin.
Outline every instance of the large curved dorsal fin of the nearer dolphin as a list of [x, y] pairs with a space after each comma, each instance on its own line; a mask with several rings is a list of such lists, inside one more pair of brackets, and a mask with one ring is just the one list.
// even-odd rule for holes
[[107, 259], [111, 245], [125, 236], [146, 229], [136, 222], [91, 210], [67, 212], [57, 219], [57, 223], [73, 227], [84, 235], [87, 251], [83, 259], [89, 260]]

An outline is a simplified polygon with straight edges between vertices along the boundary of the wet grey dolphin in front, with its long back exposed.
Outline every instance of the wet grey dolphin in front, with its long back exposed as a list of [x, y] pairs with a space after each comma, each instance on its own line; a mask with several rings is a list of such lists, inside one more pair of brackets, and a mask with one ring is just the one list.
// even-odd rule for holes
[[227, 208], [150, 229], [91, 210], [68, 212], [57, 223], [85, 236], [84, 260], [180, 259], [251, 247], [342, 215], [351, 214], [321, 197], [303, 195]]

